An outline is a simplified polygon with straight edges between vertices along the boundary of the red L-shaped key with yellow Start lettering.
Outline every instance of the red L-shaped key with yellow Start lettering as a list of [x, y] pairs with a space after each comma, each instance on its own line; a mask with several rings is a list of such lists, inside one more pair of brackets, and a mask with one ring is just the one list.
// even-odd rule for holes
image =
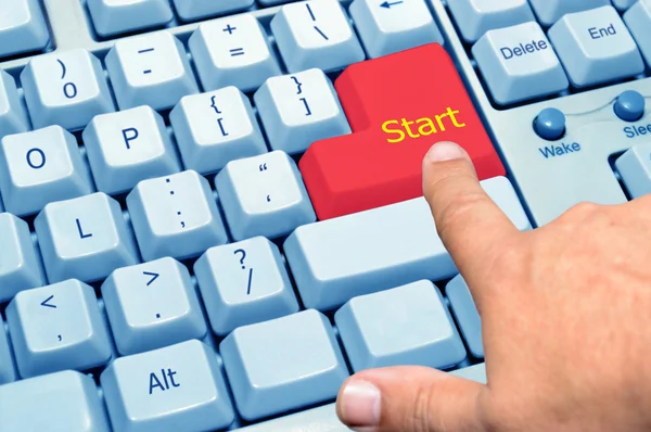
[[354, 64], [335, 88], [353, 134], [315, 142], [299, 163], [319, 219], [421, 196], [422, 160], [437, 141], [462, 145], [480, 179], [505, 174], [439, 45]]

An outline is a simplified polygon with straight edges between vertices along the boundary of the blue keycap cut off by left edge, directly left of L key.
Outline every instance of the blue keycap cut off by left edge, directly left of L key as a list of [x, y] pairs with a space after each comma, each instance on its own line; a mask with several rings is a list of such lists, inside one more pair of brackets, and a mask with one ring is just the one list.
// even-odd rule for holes
[[46, 283], [27, 223], [10, 213], [0, 213], [0, 303], [18, 291]]

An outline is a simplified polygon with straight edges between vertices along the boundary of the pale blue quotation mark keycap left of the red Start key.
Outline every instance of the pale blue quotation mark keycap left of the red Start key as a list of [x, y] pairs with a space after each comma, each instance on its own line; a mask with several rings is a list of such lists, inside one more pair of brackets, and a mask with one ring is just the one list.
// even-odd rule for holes
[[235, 240], [286, 236], [317, 218], [296, 163], [284, 152], [230, 162], [215, 186]]

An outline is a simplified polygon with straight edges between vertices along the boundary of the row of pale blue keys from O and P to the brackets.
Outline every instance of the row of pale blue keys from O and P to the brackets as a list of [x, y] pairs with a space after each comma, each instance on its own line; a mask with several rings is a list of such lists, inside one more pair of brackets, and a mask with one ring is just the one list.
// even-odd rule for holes
[[[268, 86], [255, 99], [272, 150], [298, 153], [314, 140], [350, 131], [332, 84], [321, 71], [271, 78]], [[296, 88], [301, 94], [295, 94]], [[173, 110], [170, 123], [183, 164], [201, 174], [267, 152], [251, 102], [234, 87], [183, 98]], [[81, 137], [94, 183], [75, 138], [60, 126], [4, 137], [0, 190], [7, 211], [30, 215], [49, 202], [92, 193], [95, 187], [112, 195], [128, 192], [141, 180], [182, 169], [163, 118], [149, 106], [98, 115]], [[289, 168], [273, 173], [299, 182], [298, 174]]]

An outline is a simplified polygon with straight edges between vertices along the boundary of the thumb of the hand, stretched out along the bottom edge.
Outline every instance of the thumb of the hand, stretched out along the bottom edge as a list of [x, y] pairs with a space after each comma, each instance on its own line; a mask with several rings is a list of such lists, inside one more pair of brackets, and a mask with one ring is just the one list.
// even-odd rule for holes
[[486, 386], [419, 366], [365, 370], [340, 390], [340, 420], [363, 432], [477, 432]]

